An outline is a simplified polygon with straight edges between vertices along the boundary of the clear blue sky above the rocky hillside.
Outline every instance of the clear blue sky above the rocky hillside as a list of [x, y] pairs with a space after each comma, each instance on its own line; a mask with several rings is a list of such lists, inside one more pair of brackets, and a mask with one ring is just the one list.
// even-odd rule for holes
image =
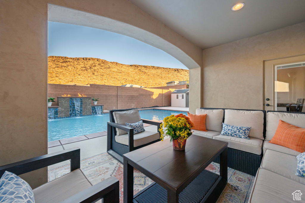
[[187, 69], [166, 52], [134, 38], [64, 23], [48, 22], [48, 55], [92, 57], [129, 65]]

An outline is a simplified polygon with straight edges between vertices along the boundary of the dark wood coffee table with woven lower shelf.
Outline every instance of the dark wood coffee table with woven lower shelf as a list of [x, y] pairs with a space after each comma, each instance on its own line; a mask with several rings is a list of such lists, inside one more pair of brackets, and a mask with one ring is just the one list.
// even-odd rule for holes
[[[228, 143], [192, 135], [185, 151], [169, 139], [124, 154], [124, 203], [216, 202], [228, 178]], [[205, 168], [220, 155], [220, 175]], [[133, 195], [133, 168], [155, 181]]]

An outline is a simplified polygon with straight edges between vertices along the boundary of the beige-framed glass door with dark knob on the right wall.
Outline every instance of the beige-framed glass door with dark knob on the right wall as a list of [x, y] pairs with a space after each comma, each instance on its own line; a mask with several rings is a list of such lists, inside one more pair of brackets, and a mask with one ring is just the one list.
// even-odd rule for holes
[[305, 55], [264, 61], [264, 110], [304, 112]]

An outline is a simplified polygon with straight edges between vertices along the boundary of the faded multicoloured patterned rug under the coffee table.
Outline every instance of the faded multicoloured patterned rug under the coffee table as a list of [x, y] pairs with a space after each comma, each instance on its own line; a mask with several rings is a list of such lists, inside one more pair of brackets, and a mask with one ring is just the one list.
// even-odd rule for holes
[[[108, 153], [92, 156], [81, 160], [81, 170], [88, 176], [93, 184], [97, 184], [111, 176], [120, 181], [120, 203], [123, 203], [123, 165]], [[211, 163], [206, 170], [219, 174], [219, 164]], [[70, 172], [70, 164], [61, 166], [48, 171], [48, 181]], [[249, 195], [253, 186], [254, 176], [228, 168], [228, 184], [217, 200], [218, 203], [224, 202], [248, 202]], [[153, 183], [151, 179], [134, 169], [134, 194]]]

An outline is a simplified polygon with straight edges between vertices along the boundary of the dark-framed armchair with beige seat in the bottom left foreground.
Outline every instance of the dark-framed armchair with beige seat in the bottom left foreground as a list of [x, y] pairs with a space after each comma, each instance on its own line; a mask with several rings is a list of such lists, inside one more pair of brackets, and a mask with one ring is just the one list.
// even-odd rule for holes
[[101, 200], [104, 203], [120, 202], [119, 180], [110, 177], [93, 185], [80, 169], [81, 150], [78, 147], [0, 166], [0, 177], [5, 171], [21, 175], [69, 159], [70, 173], [33, 190], [36, 203], [89, 203]]

